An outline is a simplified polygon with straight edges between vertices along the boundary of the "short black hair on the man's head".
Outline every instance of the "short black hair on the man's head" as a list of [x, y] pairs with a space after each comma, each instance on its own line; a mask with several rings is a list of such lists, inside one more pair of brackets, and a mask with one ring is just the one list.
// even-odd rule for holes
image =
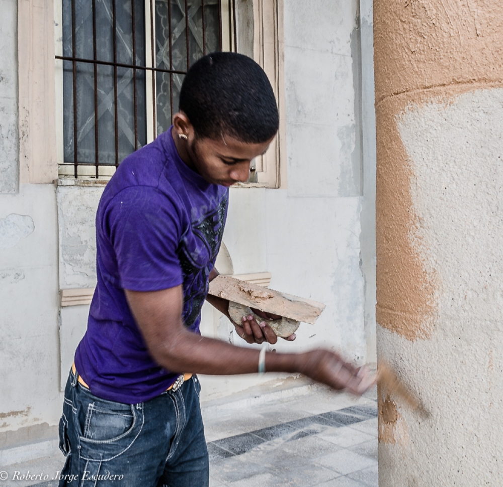
[[279, 127], [273, 88], [251, 58], [214, 52], [194, 63], [180, 92], [179, 110], [190, 119], [196, 137], [224, 134], [246, 143], [271, 139]]

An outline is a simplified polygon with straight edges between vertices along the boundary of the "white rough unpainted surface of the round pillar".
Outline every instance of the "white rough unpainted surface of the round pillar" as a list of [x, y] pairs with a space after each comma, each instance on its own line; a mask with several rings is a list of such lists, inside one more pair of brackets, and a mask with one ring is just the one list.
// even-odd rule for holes
[[500, 485], [503, 89], [411, 105], [397, 118], [414, 177], [410, 235], [436, 310], [428, 339], [379, 327], [379, 354], [420, 394], [379, 444], [380, 484]]

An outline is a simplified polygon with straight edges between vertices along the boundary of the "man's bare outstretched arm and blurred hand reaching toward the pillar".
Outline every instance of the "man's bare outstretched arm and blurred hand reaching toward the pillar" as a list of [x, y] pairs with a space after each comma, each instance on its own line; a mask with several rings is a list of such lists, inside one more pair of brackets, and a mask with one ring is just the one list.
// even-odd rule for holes
[[[125, 291], [146, 345], [163, 368], [211, 375], [258, 371], [259, 351], [241, 348], [187, 330], [182, 321], [183, 289]], [[302, 373], [334, 389], [362, 394], [373, 383], [368, 374], [329, 350], [266, 353], [268, 372]]]

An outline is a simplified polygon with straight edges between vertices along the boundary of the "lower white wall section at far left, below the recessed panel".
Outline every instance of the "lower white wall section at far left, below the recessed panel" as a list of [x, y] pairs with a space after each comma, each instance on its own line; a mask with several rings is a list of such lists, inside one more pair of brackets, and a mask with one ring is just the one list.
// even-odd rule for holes
[[57, 235], [53, 185], [0, 195], [0, 433], [60, 416]]

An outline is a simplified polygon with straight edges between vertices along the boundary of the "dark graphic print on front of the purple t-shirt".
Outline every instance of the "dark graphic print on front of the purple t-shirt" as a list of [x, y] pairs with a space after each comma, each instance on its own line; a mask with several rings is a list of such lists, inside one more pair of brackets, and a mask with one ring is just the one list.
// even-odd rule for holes
[[208, 276], [220, 249], [227, 203], [226, 193], [213, 211], [193, 221], [177, 252], [184, 278], [183, 319], [188, 328], [201, 313], [208, 293]]

